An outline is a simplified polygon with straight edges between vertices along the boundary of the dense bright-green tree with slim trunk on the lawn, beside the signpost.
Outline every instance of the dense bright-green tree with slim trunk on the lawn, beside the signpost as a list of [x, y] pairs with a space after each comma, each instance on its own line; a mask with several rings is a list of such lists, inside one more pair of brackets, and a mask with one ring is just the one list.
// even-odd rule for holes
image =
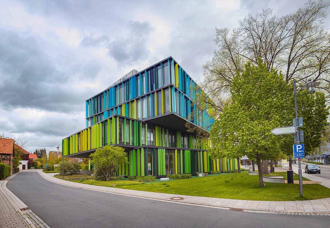
[[243, 72], [233, 78], [232, 103], [224, 106], [211, 129], [213, 148], [209, 154], [213, 159], [244, 154], [255, 158], [259, 185], [263, 186], [261, 160], [281, 156], [281, 140], [270, 131], [283, 126], [292, 108], [293, 94], [281, 74], [268, 71], [260, 58], [257, 64], [247, 63]]

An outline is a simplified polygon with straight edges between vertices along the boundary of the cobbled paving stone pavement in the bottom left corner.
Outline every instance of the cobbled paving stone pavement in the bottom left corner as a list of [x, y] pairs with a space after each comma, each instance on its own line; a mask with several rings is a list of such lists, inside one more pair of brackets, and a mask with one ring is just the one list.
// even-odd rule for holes
[[26, 209], [27, 205], [7, 189], [6, 184], [8, 180], [16, 174], [11, 175], [6, 180], [0, 181], [0, 227], [49, 228], [49, 226], [30, 209], [24, 211], [20, 210], [21, 208]]

